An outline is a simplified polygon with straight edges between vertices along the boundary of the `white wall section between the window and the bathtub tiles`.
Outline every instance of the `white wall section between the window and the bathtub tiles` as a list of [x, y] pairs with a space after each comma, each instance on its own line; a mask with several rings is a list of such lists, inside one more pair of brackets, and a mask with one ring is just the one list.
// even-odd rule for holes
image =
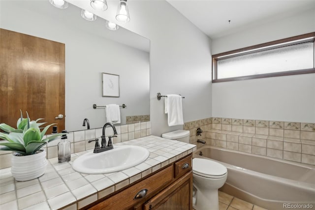
[[214, 83], [213, 116], [314, 122], [315, 74]]

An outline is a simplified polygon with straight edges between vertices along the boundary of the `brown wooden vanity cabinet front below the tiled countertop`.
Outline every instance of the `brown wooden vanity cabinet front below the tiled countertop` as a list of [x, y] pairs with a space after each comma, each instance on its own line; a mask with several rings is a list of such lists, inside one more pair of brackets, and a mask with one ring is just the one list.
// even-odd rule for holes
[[[91, 210], [192, 210], [191, 154], [96, 203]], [[143, 195], [143, 193], [145, 195]], [[138, 198], [135, 198], [138, 195]]]

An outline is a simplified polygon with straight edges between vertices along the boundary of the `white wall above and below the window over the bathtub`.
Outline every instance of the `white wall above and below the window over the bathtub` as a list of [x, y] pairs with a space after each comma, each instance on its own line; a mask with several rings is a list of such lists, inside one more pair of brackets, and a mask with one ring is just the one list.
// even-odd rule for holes
[[[315, 11], [213, 39], [213, 54], [315, 32]], [[212, 116], [315, 122], [315, 74], [212, 84]]]

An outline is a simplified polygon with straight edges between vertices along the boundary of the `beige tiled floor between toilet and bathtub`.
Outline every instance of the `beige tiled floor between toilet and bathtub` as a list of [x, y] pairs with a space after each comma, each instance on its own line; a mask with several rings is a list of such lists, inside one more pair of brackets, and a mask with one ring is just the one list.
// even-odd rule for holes
[[221, 191], [219, 191], [219, 208], [220, 210], [266, 210]]

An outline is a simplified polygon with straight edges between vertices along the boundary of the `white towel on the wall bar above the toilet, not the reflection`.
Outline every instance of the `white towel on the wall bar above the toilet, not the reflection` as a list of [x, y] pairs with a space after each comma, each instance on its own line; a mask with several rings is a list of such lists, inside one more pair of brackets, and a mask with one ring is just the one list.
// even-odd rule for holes
[[184, 125], [182, 96], [170, 94], [165, 98], [168, 126]]

